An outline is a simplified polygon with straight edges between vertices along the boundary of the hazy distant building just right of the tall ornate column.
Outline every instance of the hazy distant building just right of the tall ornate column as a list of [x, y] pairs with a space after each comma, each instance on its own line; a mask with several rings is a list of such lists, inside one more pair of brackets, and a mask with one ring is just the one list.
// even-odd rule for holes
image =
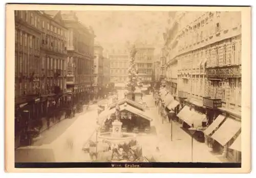
[[136, 44], [135, 62], [138, 66], [138, 78], [140, 78], [144, 87], [151, 86], [154, 81], [153, 64], [154, 64], [154, 47], [146, 44]]

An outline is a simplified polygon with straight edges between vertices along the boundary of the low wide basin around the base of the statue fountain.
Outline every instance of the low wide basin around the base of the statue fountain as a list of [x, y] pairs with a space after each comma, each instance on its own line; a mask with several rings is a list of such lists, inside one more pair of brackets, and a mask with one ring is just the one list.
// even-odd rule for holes
[[112, 135], [112, 132], [103, 132], [98, 136], [99, 140], [108, 140], [111, 143], [122, 143], [130, 142], [131, 140], [136, 139], [135, 133], [122, 132], [121, 136], [115, 137]]

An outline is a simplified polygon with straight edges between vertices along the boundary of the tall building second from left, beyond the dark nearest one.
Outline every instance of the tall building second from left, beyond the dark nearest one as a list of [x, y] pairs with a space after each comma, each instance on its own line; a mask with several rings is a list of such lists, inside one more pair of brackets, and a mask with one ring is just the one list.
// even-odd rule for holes
[[67, 31], [67, 90], [74, 101], [86, 99], [92, 91], [94, 38], [92, 28], [82, 25], [73, 11], [61, 11]]

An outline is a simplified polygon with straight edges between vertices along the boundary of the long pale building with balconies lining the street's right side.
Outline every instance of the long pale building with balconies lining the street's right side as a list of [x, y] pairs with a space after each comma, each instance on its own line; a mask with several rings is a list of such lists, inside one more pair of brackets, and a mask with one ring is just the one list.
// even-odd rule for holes
[[177, 75], [178, 97], [215, 125], [204, 132], [207, 144], [241, 160], [241, 152], [229, 148], [241, 132], [241, 13], [177, 13], [165, 41], [167, 71], [171, 80]]

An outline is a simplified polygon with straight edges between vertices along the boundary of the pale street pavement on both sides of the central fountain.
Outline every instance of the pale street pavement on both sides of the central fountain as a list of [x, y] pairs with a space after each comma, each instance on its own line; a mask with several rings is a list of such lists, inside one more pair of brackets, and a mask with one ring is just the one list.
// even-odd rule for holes
[[[97, 105], [106, 105], [108, 100], [101, 100], [97, 104], [90, 105], [89, 109], [77, 114], [72, 119], [65, 119], [49, 130], [41, 133], [40, 139], [31, 147], [41, 148], [40, 153], [17, 154], [19, 161], [33, 160], [44, 162], [87, 162], [90, 161], [88, 153], [82, 151], [88, 140], [96, 140]], [[140, 133], [137, 136], [138, 143], [142, 146], [143, 155], [147, 159], [152, 157], [157, 162], [191, 162], [191, 137], [181, 129], [181, 125], [173, 122], [173, 141], [170, 140], [171, 127], [168, 121], [158, 114], [152, 95], [144, 95], [143, 102], [147, 103], [145, 112], [152, 117], [151, 133]], [[159, 151], [157, 150], [159, 148]], [[49, 149], [52, 153], [49, 153]], [[47, 159], [47, 157], [51, 157]], [[220, 155], [212, 154], [205, 143], [193, 140], [193, 162], [227, 162]]]

